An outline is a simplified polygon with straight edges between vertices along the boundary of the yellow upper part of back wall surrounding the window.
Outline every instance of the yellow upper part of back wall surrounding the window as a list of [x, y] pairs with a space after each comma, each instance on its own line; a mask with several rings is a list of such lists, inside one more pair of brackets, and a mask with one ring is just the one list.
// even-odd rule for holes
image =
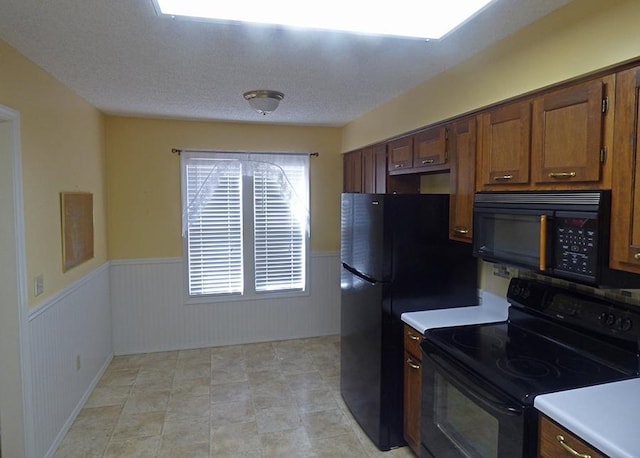
[[172, 148], [318, 152], [311, 158], [311, 250], [340, 247], [340, 130], [107, 116], [109, 258], [182, 255], [180, 159]]

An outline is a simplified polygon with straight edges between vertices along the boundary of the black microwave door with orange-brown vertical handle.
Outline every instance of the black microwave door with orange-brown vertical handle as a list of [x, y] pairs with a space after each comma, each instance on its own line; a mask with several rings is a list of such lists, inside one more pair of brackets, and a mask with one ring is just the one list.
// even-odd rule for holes
[[476, 207], [473, 253], [490, 262], [534, 271], [551, 265], [553, 212]]

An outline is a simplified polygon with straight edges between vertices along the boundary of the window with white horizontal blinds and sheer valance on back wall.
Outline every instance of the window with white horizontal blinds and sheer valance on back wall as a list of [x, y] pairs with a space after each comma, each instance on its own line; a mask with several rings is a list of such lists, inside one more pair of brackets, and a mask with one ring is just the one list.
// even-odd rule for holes
[[183, 152], [189, 296], [306, 290], [309, 156]]

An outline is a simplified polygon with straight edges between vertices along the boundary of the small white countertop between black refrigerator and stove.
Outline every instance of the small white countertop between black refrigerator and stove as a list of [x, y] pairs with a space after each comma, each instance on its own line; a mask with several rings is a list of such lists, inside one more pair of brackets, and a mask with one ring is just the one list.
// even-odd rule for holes
[[473, 307], [407, 312], [403, 313], [401, 318], [421, 334], [424, 334], [427, 329], [495, 323], [507, 319], [509, 303], [505, 298], [481, 291], [480, 302], [480, 305]]

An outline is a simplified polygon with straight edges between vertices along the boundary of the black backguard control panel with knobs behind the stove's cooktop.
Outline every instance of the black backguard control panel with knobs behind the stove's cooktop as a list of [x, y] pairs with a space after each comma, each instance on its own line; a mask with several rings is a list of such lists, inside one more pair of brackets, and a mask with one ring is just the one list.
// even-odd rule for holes
[[640, 338], [640, 312], [627, 304], [520, 278], [511, 280], [507, 297], [511, 304], [574, 327], [629, 341]]

